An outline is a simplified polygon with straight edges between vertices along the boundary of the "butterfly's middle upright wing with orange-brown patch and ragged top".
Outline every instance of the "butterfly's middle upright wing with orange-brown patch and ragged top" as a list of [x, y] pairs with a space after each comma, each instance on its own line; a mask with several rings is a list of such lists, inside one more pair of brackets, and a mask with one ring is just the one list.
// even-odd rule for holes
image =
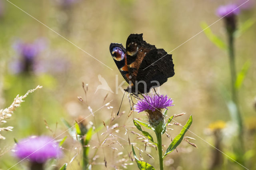
[[135, 83], [138, 69], [147, 53], [156, 49], [155, 45], [150, 45], [143, 40], [142, 34], [130, 34], [126, 41], [126, 59], [128, 73], [132, 83]]

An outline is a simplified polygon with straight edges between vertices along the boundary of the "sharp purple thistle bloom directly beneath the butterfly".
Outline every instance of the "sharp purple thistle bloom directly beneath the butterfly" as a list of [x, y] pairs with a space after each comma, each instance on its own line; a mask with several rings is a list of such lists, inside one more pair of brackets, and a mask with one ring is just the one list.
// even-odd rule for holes
[[142, 112], [142, 111], [155, 111], [156, 109], [167, 109], [169, 106], [173, 106], [173, 100], [168, 98], [167, 95], [144, 95], [144, 99], [140, 99], [138, 103], [135, 105], [135, 111]]

